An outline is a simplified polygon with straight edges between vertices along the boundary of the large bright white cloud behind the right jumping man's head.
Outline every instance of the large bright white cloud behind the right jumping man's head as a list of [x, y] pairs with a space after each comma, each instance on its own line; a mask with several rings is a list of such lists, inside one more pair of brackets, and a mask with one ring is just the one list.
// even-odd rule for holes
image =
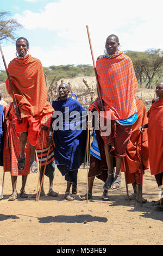
[[61, 0], [47, 4], [41, 13], [26, 10], [22, 15], [15, 15], [15, 19], [29, 30], [43, 28], [58, 33], [61, 46], [51, 47], [51, 51], [42, 50], [37, 40], [34, 56], [40, 53], [38, 57], [43, 56], [43, 65], [51, 65], [48, 63], [52, 61], [53, 64], [92, 64], [86, 25], [89, 25], [95, 59], [103, 54], [105, 39], [112, 33], [118, 35], [122, 50], [163, 48], [162, 4], [162, 0]]

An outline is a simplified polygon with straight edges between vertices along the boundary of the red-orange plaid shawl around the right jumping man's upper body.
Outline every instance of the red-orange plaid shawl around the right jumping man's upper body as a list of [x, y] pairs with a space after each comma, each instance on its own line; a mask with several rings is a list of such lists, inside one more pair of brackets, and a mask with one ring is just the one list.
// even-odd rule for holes
[[[100, 93], [105, 110], [110, 110], [111, 120], [127, 119], [136, 111], [134, 100], [137, 80], [131, 59], [123, 52], [115, 57], [102, 58], [96, 62]], [[98, 99], [90, 106], [98, 109]]]

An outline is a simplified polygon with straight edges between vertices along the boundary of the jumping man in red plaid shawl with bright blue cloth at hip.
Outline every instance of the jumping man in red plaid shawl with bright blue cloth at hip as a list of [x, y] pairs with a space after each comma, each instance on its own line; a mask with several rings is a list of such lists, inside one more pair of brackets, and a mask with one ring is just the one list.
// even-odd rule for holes
[[[111, 133], [101, 136], [104, 140], [106, 162], [108, 164], [108, 178], [104, 189], [118, 190], [121, 185], [121, 162], [126, 155], [125, 150], [131, 135], [132, 124], [137, 119], [135, 93], [137, 80], [131, 59], [118, 50], [120, 45], [116, 35], [109, 35], [105, 43], [105, 55], [99, 56], [96, 70], [99, 80], [99, 92], [104, 106], [98, 99], [92, 103], [98, 112], [104, 111], [105, 117], [109, 113], [111, 119]], [[102, 113], [100, 114], [102, 116]], [[106, 118], [105, 118], [106, 120]], [[106, 130], [110, 127], [106, 127]], [[114, 176], [113, 157], [116, 157], [116, 174]]]

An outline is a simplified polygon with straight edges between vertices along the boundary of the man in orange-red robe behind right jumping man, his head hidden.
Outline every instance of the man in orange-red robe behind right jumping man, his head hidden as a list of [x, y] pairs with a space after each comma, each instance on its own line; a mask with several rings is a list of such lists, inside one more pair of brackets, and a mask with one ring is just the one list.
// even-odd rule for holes
[[[142, 100], [136, 99], [137, 120], [132, 125], [132, 133], [127, 145], [126, 156], [124, 157], [126, 166], [127, 184], [133, 185], [134, 193], [129, 197], [130, 200], [136, 199], [140, 202], [140, 188], [141, 188], [141, 132], [139, 127], [148, 123], [146, 107]], [[142, 143], [142, 162], [143, 170], [149, 169], [149, 154], [148, 154], [148, 135], [147, 130], [143, 133]], [[122, 172], [124, 172], [124, 165], [122, 162]], [[146, 203], [146, 199], [142, 199]]]

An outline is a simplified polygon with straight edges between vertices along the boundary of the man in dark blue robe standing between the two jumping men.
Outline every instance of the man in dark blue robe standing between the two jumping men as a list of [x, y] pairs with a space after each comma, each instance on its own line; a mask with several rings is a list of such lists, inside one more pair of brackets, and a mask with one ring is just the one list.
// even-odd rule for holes
[[52, 116], [48, 142], [52, 142], [54, 130], [55, 163], [67, 181], [65, 198], [74, 200], [70, 188], [71, 185], [77, 187], [78, 168], [84, 162], [87, 111], [78, 101], [68, 96], [70, 93], [68, 84], [60, 84], [58, 92], [58, 100], [52, 103], [55, 112]]

